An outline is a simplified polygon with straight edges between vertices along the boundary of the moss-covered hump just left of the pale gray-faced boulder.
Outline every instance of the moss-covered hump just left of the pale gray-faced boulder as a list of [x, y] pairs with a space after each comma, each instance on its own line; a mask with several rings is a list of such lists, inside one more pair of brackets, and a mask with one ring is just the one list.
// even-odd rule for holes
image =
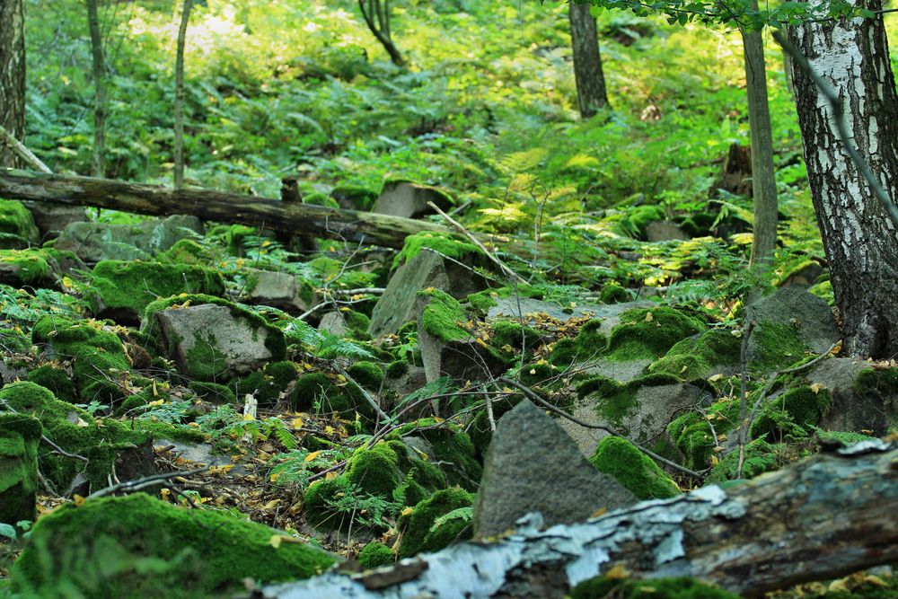
[[111, 403], [123, 393], [117, 383], [131, 364], [121, 339], [95, 322], [45, 316], [35, 323], [31, 339], [48, 345], [57, 356], [73, 357], [78, 397], [84, 403]]

